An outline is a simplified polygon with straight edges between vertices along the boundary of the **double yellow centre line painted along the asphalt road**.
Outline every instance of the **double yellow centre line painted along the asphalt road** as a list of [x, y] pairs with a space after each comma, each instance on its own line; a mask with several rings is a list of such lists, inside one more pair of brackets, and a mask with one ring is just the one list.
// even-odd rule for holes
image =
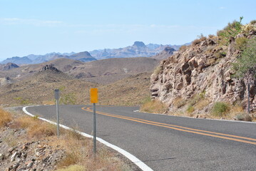
[[[93, 112], [93, 110], [91, 110], [91, 107], [84, 107], [82, 108], [82, 110], [86, 110], [88, 112]], [[150, 120], [143, 120], [143, 119], [139, 119], [139, 118], [131, 118], [128, 116], [123, 116], [123, 115], [114, 115], [111, 113], [103, 113], [103, 112], [99, 112], [96, 111], [97, 114], [99, 115], [106, 115], [106, 116], [110, 116], [113, 118], [121, 118], [124, 120], [131, 120], [137, 123], [145, 123], [148, 125], [155, 125], [155, 126], [159, 126], [159, 127], [163, 127], [163, 128], [170, 128], [173, 130], [180, 130], [183, 132], [187, 132], [187, 133], [195, 133], [195, 134], [199, 134], [199, 135], [206, 135], [206, 136], [210, 136], [210, 137], [215, 137], [215, 138], [222, 138], [225, 140], [234, 140], [234, 141], [238, 141], [238, 142], [245, 142], [247, 144], [252, 144], [252, 145], [256, 145], [256, 139], [254, 138], [246, 138], [246, 137], [241, 137], [241, 136], [237, 136], [237, 135], [229, 135], [229, 134], [224, 134], [224, 133], [215, 133], [215, 132], [211, 132], [211, 131], [207, 131], [207, 130], [198, 130], [198, 129], [193, 129], [193, 128], [187, 128], [187, 127], [183, 127], [183, 126], [178, 126], [178, 125], [172, 125], [172, 124], [166, 124], [166, 123], [158, 123], [158, 122], [153, 122]]]

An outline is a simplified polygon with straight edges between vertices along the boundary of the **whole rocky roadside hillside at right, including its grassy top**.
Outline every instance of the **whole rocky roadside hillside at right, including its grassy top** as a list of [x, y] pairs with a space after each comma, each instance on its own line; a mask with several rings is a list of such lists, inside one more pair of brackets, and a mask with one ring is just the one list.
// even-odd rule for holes
[[[217, 33], [218, 36], [201, 36], [190, 46], [182, 46], [178, 53], [161, 61], [151, 76], [151, 97], [167, 104], [170, 111], [209, 113], [218, 101], [247, 108], [248, 77], [234, 78], [232, 63], [236, 63], [244, 51], [242, 46], [255, 40], [256, 26], [255, 23], [238, 24], [229, 24]], [[234, 34], [228, 31], [234, 31]], [[256, 106], [253, 74], [249, 74], [250, 105]]]

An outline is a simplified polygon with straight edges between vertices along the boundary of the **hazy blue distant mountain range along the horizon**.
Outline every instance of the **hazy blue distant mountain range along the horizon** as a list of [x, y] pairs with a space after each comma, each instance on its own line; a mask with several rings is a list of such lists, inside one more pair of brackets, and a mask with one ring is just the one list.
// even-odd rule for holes
[[[188, 43], [187, 43], [188, 44]], [[1, 61], [1, 64], [6, 63], [16, 63], [18, 65], [22, 64], [35, 64], [35, 63], [43, 63], [47, 61], [51, 61], [57, 58], [69, 58], [73, 60], [88, 62], [88, 61], [96, 61], [98, 59], [106, 59], [106, 58], [133, 58], [133, 57], [150, 57], [155, 56], [158, 53], [162, 52], [166, 47], [170, 47], [169, 51], [178, 51], [180, 45], [162, 45], [162, 44], [153, 44], [150, 43], [145, 45], [142, 41], [135, 41], [133, 46], [127, 46], [125, 48], [106, 48], [94, 51], [84, 51], [80, 53], [47, 53], [45, 55], [34, 55], [31, 54], [29, 56], [24, 57], [12, 57], [6, 58], [6, 60]], [[170, 53], [171, 55], [172, 53]]]

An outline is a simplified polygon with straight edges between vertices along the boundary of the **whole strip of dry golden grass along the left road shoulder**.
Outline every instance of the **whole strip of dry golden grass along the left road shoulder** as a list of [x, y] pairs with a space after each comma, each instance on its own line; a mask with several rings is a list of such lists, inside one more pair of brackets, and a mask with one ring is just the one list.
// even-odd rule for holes
[[132, 170], [128, 164], [121, 160], [118, 153], [107, 147], [97, 144], [97, 154], [93, 154], [93, 141], [84, 138], [70, 130], [61, 128], [60, 137], [56, 136], [56, 125], [39, 120], [38, 117], [31, 118], [24, 115], [14, 115], [0, 109], [0, 128], [11, 128], [14, 130], [26, 130], [26, 136], [19, 138], [4, 138], [10, 147], [15, 147], [21, 142], [47, 141], [51, 147], [64, 150], [64, 157], [58, 161], [58, 171], [71, 170]]

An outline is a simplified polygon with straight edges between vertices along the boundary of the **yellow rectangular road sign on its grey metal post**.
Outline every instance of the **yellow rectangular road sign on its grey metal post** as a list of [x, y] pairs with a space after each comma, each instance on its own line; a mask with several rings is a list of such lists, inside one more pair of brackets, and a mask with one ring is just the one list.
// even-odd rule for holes
[[98, 103], [98, 88], [91, 88], [91, 103], [93, 103], [93, 152], [96, 154], [96, 103]]

